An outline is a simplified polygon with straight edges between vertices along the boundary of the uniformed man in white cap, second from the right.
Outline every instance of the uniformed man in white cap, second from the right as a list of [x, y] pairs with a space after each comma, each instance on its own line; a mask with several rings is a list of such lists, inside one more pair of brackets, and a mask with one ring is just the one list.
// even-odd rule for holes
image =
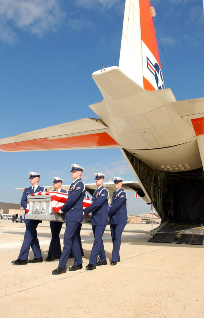
[[[86, 266], [87, 270], [92, 270], [100, 265], [107, 265], [105, 250], [102, 236], [105, 227], [108, 224], [108, 190], [103, 187], [104, 178], [106, 176], [100, 172], [95, 173], [95, 180], [97, 189], [92, 196], [92, 204], [85, 208], [84, 214], [92, 213], [91, 225], [94, 233], [94, 244], [89, 258], [89, 264]], [[97, 262], [97, 257], [99, 261]]]

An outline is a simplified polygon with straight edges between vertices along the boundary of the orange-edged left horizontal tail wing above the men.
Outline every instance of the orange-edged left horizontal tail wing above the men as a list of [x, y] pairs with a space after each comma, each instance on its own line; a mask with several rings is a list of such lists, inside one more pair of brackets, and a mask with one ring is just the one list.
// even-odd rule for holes
[[83, 118], [0, 139], [5, 152], [116, 148], [110, 129], [101, 119]]

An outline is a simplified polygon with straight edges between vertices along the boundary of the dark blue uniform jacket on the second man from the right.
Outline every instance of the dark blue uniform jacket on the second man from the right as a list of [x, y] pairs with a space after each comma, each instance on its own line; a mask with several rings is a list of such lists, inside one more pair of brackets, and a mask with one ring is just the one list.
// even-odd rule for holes
[[85, 214], [92, 213], [91, 225], [108, 224], [108, 190], [103, 186], [97, 188], [92, 197], [92, 204], [84, 209]]

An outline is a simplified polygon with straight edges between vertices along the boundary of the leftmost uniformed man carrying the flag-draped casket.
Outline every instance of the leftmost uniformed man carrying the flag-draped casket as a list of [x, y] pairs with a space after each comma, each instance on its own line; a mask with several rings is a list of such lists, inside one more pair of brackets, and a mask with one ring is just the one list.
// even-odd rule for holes
[[[30, 183], [32, 186], [29, 188], [25, 188], [23, 195], [22, 195], [22, 199], [20, 201], [20, 204], [22, 205], [23, 209], [25, 209], [25, 215], [26, 215], [28, 195], [35, 193], [35, 192], [39, 192], [39, 191], [47, 191], [46, 188], [40, 187], [38, 185], [39, 180], [40, 180], [40, 176], [41, 176], [41, 174], [39, 174], [39, 173], [30, 172], [29, 179], [30, 179]], [[43, 262], [42, 253], [40, 250], [40, 245], [39, 245], [39, 241], [37, 238], [37, 231], [36, 231], [38, 224], [41, 222], [42, 221], [39, 221], [39, 220], [27, 220], [27, 219], [25, 219], [25, 216], [24, 216], [24, 223], [26, 226], [24, 240], [23, 240], [23, 244], [22, 244], [18, 259], [13, 260], [12, 264], [24, 265], [27, 263], [41, 263], [41, 262]], [[34, 253], [34, 259], [28, 261], [28, 253], [30, 250], [30, 246], [31, 246], [32, 251]]]

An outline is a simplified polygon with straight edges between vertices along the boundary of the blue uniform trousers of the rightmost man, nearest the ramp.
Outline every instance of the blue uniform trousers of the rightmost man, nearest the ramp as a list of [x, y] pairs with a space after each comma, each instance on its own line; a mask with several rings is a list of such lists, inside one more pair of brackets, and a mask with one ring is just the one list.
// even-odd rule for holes
[[117, 262], [118, 260], [120, 260], [121, 236], [125, 228], [125, 225], [126, 224], [121, 224], [121, 223], [110, 225], [112, 243], [113, 243], [112, 262]]

